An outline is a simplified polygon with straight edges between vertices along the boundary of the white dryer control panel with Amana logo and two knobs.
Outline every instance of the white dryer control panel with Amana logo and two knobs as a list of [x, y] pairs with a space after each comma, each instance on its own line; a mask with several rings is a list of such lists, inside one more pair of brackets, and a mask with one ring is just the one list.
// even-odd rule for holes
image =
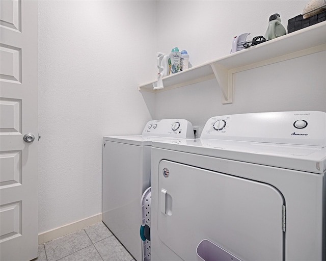
[[210, 118], [203, 139], [326, 146], [326, 113], [246, 113]]

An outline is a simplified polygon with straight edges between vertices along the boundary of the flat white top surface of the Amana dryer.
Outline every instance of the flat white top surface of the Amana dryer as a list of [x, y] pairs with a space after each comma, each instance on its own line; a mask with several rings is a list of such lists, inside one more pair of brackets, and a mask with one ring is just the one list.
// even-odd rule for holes
[[313, 173], [326, 171], [325, 146], [187, 139], [153, 141], [152, 147]]

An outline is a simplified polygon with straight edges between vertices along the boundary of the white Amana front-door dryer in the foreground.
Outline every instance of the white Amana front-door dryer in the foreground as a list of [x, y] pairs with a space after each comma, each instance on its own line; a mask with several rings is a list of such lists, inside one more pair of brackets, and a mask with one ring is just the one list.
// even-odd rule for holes
[[[152, 144], [152, 261], [325, 260], [326, 113], [210, 118]], [[196, 251], [197, 250], [197, 251]]]

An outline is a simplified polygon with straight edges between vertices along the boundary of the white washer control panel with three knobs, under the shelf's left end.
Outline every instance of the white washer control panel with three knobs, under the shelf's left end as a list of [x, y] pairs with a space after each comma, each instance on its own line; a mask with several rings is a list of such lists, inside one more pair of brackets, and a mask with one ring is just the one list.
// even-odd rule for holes
[[145, 125], [142, 135], [194, 138], [194, 128], [192, 123], [185, 119], [151, 120]]

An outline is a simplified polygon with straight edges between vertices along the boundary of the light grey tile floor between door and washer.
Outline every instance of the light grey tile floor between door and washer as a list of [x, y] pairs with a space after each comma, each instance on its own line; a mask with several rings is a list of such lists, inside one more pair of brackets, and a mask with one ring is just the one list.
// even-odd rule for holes
[[33, 261], [134, 261], [130, 253], [102, 223], [39, 245]]

